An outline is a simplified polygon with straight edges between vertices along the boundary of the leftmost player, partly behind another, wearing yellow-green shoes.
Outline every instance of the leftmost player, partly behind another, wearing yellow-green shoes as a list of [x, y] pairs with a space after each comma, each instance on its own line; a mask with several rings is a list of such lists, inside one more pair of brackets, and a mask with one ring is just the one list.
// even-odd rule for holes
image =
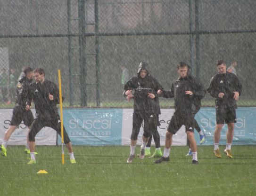
[[[0, 146], [2, 156], [7, 156], [7, 144], [8, 140], [11, 137], [12, 133], [15, 131], [17, 126], [24, 122], [24, 125], [28, 126], [30, 129], [31, 124], [33, 123], [34, 117], [32, 112], [25, 110], [26, 107], [26, 95], [28, 93], [28, 88], [30, 83], [33, 80], [33, 69], [31, 67], [24, 68], [23, 74], [20, 75], [18, 83], [16, 86], [16, 104], [13, 108], [12, 119], [9, 128], [4, 134], [2, 145]], [[25, 147], [25, 153], [29, 154], [28, 146], [28, 135], [27, 135], [27, 144]]]

